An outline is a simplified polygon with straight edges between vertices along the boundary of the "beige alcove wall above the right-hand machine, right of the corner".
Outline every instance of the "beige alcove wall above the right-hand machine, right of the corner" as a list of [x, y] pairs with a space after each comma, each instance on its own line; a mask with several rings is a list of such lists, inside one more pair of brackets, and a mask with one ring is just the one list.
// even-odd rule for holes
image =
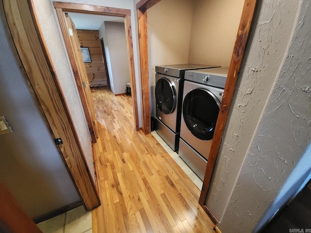
[[228, 67], [244, 0], [194, 1], [189, 63]]

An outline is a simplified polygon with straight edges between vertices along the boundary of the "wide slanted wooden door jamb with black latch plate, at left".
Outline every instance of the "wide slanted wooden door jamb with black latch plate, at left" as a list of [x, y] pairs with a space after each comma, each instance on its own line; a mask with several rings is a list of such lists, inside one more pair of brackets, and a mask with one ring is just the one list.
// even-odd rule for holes
[[9, 29], [19, 58], [43, 110], [52, 137], [62, 138], [57, 146], [87, 209], [100, 205], [99, 196], [86, 165], [85, 156], [73, 126], [68, 106], [42, 37], [33, 2], [3, 0]]

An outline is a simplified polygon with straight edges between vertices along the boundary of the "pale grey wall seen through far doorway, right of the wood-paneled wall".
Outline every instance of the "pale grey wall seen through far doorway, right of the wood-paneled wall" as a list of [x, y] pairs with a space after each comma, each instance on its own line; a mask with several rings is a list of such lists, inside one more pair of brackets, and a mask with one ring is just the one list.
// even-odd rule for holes
[[[112, 80], [115, 95], [125, 93], [126, 83], [130, 82], [127, 44], [124, 23], [104, 22], [106, 33], [106, 54], [109, 60], [109, 79]], [[110, 78], [111, 76], [111, 78]]]

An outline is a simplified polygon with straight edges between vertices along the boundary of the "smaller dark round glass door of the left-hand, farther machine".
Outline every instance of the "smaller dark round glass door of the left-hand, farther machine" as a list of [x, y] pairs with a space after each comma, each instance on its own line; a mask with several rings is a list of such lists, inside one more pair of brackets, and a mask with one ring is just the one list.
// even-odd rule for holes
[[155, 84], [155, 100], [158, 109], [168, 115], [176, 106], [176, 93], [172, 83], [166, 78], [160, 78]]

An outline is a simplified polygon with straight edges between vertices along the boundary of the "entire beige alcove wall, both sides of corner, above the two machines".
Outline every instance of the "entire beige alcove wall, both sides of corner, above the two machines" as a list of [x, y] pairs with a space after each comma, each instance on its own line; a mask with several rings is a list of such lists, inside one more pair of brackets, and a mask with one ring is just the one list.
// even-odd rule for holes
[[161, 0], [148, 9], [151, 110], [155, 66], [207, 64], [228, 67], [244, 0]]

